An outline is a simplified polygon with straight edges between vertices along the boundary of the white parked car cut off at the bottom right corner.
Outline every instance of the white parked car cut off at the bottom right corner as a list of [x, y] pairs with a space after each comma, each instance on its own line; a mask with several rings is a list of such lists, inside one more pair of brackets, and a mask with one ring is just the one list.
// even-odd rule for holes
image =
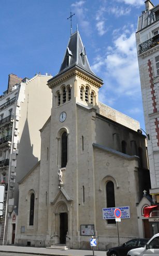
[[143, 248], [136, 248], [127, 252], [127, 256], [158, 256], [159, 255], [159, 233], [155, 234]]

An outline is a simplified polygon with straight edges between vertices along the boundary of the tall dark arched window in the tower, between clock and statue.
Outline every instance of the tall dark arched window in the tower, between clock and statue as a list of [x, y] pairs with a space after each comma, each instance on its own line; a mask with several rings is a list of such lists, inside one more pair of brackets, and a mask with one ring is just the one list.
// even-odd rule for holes
[[61, 167], [67, 164], [67, 133], [63, 132], [61, 136]]

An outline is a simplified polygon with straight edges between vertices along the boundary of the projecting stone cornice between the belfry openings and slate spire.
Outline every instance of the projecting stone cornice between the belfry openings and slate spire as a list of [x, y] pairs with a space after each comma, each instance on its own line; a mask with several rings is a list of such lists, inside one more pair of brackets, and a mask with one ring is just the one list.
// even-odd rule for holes
[[103, 85], [103, 82], [101, 80], [98, 81], [98, 79], [95, 79], [89, 75], [84, 74], [84, 72], [82, 72], [81, 70], [78, 70], [76, 67], [68, 70], [67, 72], [52, 78], [51, 80], [48, 81], [48, 87], [50, 89], [58, 86], [61, 83], [64, 83], [65, 81], [67, 81], [68, 79], [72, 78], [72, 77], [79, 77], [82, 80], [84, 80], [85, 82], [88, 82], [89, 84], [91, 84], [94, 87], [100, 88]]

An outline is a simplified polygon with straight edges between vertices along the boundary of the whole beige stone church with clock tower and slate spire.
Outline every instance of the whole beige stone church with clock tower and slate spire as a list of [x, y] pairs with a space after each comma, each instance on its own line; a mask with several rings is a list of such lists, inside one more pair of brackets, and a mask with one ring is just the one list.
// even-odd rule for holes
[[40, 161], [19, 182], [15, 244], [90, 249], [94, 236], [105, 250], [118, 245], [115, 208], [120, 243], [139, 236], [139, 222], [144, 237], [136, 207], [150, 188], [146, 137], [139, 122], [98, 101], [102, 86], [79, 32], [71, 34], [48, 81], [52, 110], [40, 130]]

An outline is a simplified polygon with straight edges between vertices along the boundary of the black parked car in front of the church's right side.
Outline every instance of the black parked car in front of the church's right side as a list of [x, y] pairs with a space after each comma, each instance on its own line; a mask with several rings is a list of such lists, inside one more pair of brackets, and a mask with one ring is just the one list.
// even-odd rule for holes
[[[133, 248], [143, 247], [149, 241], [147, 238], [135, 238], [128, 240], [122, 246], [113, 247], [107, 250], [107, 256], [126, 256]], [[159, 255], [159, 254], [158, 254]]]

